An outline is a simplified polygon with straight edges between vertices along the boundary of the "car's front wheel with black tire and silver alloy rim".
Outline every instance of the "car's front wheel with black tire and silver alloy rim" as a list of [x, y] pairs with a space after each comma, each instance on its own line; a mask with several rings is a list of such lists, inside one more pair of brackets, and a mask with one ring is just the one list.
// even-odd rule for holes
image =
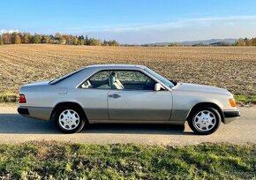
[[207, 135], [214, 133], [219, 128], [221, 119], [220, 113], [214, 108], [198, 108], [192, 110], [188, 124], [194, 133]]

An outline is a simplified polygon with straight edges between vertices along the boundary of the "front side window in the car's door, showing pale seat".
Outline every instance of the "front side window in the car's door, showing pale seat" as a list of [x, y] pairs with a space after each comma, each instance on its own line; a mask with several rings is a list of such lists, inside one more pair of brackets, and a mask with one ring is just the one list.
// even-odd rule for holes
[[110, 71], [112, 89], [154, 90], [154, 80], [140, 71]]

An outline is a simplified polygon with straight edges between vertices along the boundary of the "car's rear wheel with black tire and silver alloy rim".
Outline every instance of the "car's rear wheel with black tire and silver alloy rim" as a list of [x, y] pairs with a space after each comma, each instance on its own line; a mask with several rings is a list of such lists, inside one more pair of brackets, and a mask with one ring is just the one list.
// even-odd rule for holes
[[[66, 115], [65, 112], [67, 112]], [[68, 116], [70, 112], [71, 116]], [[67, 120], [65, 117], [69, 117]], [[72, 119], [73, 117], [73, 119]], [[79, 120], [75, 119], [78, 118]], [[56, 109], [56, 114], [54, 116], [57, 128], [64, 133], [76, 133], [83, 129], [86, 124], [85, 113], [76, 106], [61, 106]], [[67, 124], [65, 126], [64, 122]], [[65, 126], [65, 127], [64, 127]]]

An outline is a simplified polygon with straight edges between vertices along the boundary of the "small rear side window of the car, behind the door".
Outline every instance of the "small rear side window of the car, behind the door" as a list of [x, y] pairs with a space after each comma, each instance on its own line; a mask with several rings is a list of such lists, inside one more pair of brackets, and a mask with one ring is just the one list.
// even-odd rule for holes
[[109, 89], [109, 71], [99, 71], [90, 79], [87, 79], [82, 85], [82, 88]]

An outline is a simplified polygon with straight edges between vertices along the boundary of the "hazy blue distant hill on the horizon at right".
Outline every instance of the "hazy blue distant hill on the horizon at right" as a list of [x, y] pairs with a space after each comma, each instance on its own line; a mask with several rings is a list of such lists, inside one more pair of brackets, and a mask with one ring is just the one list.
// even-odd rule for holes
[[155, 42], [145, 44], [147, 46], [168, 46], [169, 44], [177, 44], [184, 46], [229, 46], [235, 43], [237, 39], [211, 39], [211, 40], [200, 40], [200, 41], [174, 41], [174, 42]]

